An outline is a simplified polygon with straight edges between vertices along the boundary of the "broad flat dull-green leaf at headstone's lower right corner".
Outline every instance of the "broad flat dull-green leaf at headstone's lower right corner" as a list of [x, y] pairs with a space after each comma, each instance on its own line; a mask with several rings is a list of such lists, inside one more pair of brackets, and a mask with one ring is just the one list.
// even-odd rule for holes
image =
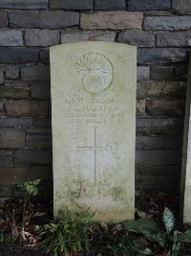
[[123, 224], [127, 230], [136, 231], [138, 233], [144, 231], [156, 233], [158, 231], [157, 224], [154, 221], [150, 221], [147, 217], [140, 218], [138, 221], [124, 221]]

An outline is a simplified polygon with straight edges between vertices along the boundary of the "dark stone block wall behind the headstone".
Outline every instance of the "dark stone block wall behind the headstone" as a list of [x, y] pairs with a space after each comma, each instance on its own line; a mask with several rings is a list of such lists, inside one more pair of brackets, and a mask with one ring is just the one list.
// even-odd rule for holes
[[190, 27], [190, 0], [1, 0], [0, 194], [52, 179], [49, 47], [82, 40], [138, 46], [136, 189], [179, 192]]

